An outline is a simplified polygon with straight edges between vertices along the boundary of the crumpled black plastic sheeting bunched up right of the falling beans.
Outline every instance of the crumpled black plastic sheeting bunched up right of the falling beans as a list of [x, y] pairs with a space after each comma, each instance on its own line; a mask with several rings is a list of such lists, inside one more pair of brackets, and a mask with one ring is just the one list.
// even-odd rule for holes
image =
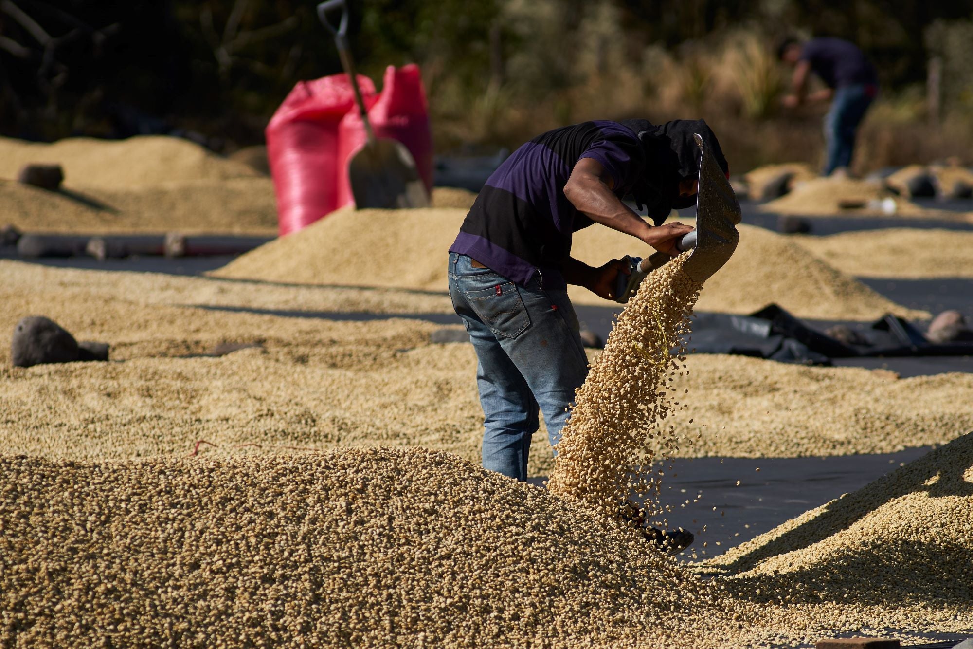
[[973, 341], [932, 343], [905, 320], [886, 315], [848, 344], [805, 325], [772, 304], [749, 316], [701, 314], [693, 323], [690, 349], [698, 354], [737, 354], [815, 365], [832, 359], [973, 355]]

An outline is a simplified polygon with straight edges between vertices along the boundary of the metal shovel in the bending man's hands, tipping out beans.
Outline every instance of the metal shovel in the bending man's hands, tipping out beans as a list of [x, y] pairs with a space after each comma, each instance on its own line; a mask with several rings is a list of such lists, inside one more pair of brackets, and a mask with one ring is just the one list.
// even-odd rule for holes
[[[682, 270], [694, 281], [703, 284], [723, 267], [733, 255], [739, 242], [737, 224], [740, 221], [739, 201], [713, 154], [703, 146], [703, 138], [693, 135], [700, 147], [700, 183], [696, 196], [696, 230], [683, 235], [675, 248], [693, 250]], [[642, 280], [672, 257], [656, 252], [646, 259], [626, 255], [631, 275], [619, 273], [615, 286], [615, 301], [629, 301]]]

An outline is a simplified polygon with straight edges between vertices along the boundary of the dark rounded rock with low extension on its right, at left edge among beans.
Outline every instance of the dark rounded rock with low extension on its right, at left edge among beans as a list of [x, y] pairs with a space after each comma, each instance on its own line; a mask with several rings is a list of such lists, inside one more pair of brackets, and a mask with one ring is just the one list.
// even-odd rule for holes
[[107, 361], [108, 344], [78, 343], [64, 327], [44, 316], [22, 318], [14, 327], [11, 359], [18, 367], [41, 363]]

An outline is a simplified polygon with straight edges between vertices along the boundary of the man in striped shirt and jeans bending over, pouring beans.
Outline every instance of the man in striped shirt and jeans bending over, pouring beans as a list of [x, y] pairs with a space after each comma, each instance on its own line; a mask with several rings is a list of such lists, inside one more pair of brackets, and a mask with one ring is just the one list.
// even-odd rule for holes
[[[593, 268], [572, 258], [572, 234], [598, 223], [675, 255], [675, 241], [693, 230], [663, 224], [673, 208], [696, 205], [693, 134], [727, 172], [703, 120], [595, 121], [538, 135], [486, 181], [449, 265], [452, 306], [479, 360], [484, 468], [526, 479], [541, 410], [551, 445], [558, 443], [565, 409], [588, 372], [566, 285], [614, 299], [619, 273], [628, 273], [618, 259]], [[652, 224], [622, 202], [627, 195]]]

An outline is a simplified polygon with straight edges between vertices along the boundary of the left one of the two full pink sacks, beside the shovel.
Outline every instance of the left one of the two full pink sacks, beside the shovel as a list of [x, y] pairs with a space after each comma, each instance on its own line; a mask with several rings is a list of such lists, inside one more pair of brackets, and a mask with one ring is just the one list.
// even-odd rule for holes
[[[358, 87], [366, 105], [374, 101], [371, 79], [359, 75]], [[265, 131], [267, 156], [281, 236], [340, 207], [340, 187], [347, 185], [347, 172], [343, 161], [339, 165], [338, 131], [354, 103], [347, 75], [333, 74], [299, 81], [270, 118]]]

